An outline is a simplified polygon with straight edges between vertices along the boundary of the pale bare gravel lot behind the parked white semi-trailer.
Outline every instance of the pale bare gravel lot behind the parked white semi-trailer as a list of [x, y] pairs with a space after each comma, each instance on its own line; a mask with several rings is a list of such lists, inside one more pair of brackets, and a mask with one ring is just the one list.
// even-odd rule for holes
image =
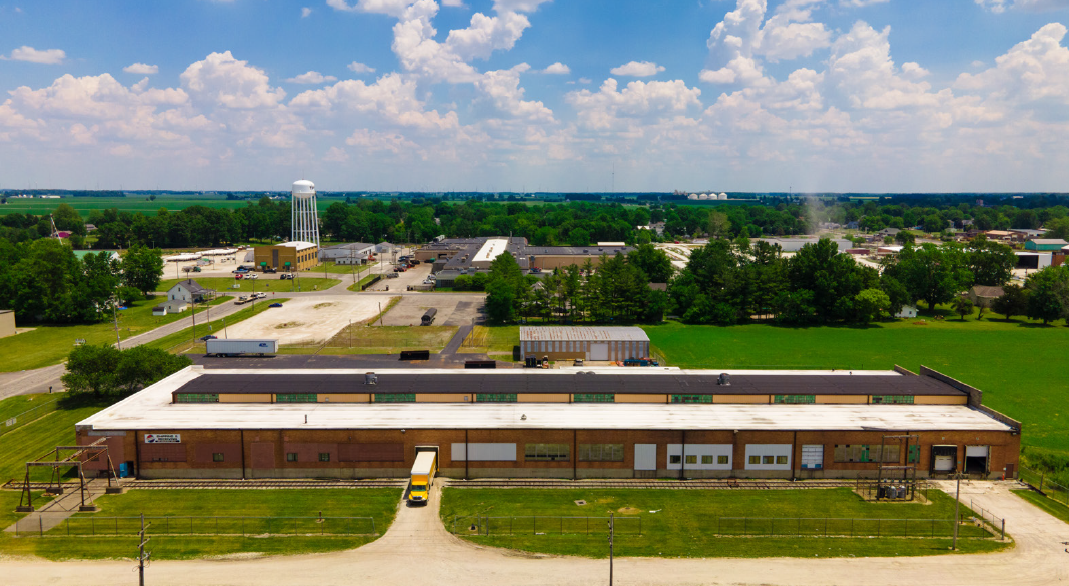
[[[268, 297], [257, 303], [273, 300]], [[322, 342], [347, 326], [350, 320], [356, 323], [374, 318], [379, 300], [378, 296], [370, 295], [291, 298], [282, 307], [227, 326], [227, 337], [277, 339], [280, 344]]]

